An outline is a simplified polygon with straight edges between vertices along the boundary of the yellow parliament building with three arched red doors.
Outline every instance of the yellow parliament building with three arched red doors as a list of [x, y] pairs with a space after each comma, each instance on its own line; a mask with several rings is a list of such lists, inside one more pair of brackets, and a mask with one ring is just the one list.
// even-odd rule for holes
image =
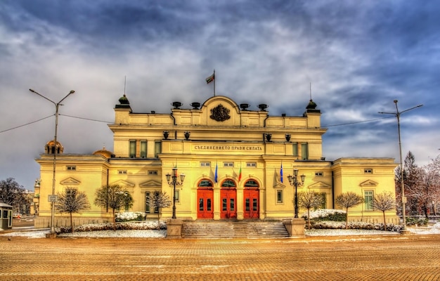
[[[110, 221], [110, 213], [93, 201], [97, 188], [114, 184], [134, 197], [129, 211], [157, 218], [145, 197], [158, 190], [172, 197], [174, 185], [169, 185], [167, 174], [173, 169], [185, 175], [183, 184], [176, 186], [177, 218], [292, 218], [295, 187], [287, 178], [297, 169], [305, 176], [298, 192], [320, 192], [327, 209], [339, 209], [334, 202], [342, 192], [356, 192], [366, 201], [349, 209], [349, 219], [382, 222], [382, 212], [373, 210], [371, 200], [382, 191], [394, 194], [394, 159], [325, 160], [322, 136], [327, 129], [321, 127], [321, 111], [312, 100], [300, 117], [270, 116], [267, 105], [248, 110], [249, 105], [226, 96], [192, 103], [190, 109], [173, 105], [169, 114], [135, 113], [127, 97], [120, 98], [115, 123], [109, 125], [114, 152], [104, 148], [93, 155], [65, 154], [58, 143], [56, 191], [78, 188], [91, 202], [89, 211], [74, 214], [75, 224]], [[54, 148], [53, 141], [47, 143], [46, 153], [36, 159], [41, 166], [37, 227], [50, 223], [47, 198], [52, 192]], [[171, 218], [172, 209], [161, 209], [162, 219]], [[388, 211], [387, 218], [398, 222], [396, 211]], [[67, 215], [56, 214], [56, 226], [66, 220]]]

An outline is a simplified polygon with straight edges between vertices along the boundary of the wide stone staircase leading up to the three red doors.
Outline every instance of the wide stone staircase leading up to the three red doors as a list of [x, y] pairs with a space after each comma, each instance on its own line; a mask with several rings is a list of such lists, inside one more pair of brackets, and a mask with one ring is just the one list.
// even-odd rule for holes
[[182, 238], [284, 238], [281, 221], [185, 221]]

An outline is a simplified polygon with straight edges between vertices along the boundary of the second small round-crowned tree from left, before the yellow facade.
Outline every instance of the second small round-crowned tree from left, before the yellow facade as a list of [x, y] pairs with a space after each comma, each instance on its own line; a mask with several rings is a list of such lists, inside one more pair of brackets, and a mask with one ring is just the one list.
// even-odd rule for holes
[[130, 193], [119, 185], [103, 185], [96, 190], [95, 205], [105, 209], [112, 209], [113, 230], [116, 230], [115, 211], [122, 207], [131, 208], [133, 206], [133, 197]]

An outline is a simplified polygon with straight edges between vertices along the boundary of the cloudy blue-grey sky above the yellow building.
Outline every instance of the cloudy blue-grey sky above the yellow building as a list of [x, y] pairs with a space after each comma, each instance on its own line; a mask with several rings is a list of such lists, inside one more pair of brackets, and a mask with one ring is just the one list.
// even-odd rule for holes
[[[439, 1], [2, 0], [0, 179], [33, 189], [34, 158], [112, 150], [107, 124], [125, 92], [134, 112], [169, 113], [216, 94], [269, 115], [322, 112], [323, 156], [439, 154]], [[385, 118], [387, 117], [387, 118]], [[26, 125], [27, 124], [27, 125]], [[23, 126], [26, 125], [26, 126]]]

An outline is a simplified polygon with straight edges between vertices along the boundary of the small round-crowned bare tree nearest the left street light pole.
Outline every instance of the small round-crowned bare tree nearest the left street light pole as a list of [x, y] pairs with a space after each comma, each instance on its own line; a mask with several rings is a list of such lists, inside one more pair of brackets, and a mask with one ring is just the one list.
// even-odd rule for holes
[[90, 209], [90, 203], [86, 193], [78, 191], [75, 188], [67, 188], [63, 193], [58, 193], [55, 209], [61, 213], [70, 214], [70, 229], [73, 233], [72, 214]]

